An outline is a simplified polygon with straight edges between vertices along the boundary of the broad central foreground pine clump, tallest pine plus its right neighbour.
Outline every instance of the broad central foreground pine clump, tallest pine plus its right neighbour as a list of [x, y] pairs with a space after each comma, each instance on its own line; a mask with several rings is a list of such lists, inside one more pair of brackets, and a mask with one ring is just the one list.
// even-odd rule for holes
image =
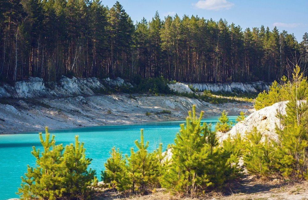
[[218, 145], [216, 133], [206, 123], [203, 112], [197, 118], [195, 106], [180, 125], [172, 146], [169, 170], [162, 186], [171, 191], [196, 196], [204, 190], [224, 186], [231, 181], [236, 167], [229, 167], [230, 153]]

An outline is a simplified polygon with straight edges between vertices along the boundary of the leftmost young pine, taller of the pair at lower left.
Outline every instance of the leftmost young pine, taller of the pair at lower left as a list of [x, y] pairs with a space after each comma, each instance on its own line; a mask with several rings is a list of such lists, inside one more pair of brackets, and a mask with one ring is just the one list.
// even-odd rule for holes
[[55, 136], [50, 139], [48, 127], [45, 129], [45, 140], [42, 133], [39, 139], [43, 146], [43, 151], [36, 150], [33, 146], [31, 154], [36, 158], [36, 166], [28, 166], [26, 177], [22, 178], [21, 187], [18, 194], [22, 199], [40, 197], [55, 200], [62, 197], [64, 188], [62, 145], [55, 145]]

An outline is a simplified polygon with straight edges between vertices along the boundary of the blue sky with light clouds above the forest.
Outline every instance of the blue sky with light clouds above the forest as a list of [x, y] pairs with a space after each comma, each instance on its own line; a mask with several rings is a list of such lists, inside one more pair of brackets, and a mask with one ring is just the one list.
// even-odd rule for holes
[[[270, 30], [277, 26], [278, 30], [294, 33], [298, 42], [308, 32], [308, 0], [118, 0], [134, 23], [144, 17], [152, 19], [156, 10], [160, 17], [178, 14], [198, 15], [200, 18], [212, 18], [218, 21], [226, 19], [247, 27], [268, 26]], [[116, 0], [102, 0], [109, 8]]]

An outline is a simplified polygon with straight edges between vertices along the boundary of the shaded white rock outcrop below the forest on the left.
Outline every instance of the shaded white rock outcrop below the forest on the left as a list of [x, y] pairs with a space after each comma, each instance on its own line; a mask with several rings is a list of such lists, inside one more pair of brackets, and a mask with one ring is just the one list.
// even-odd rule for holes
[[[103, 79], [103, 84], [114, 87], [127, 85], [122, 78]], [[0, 98], [41, 98], [41, 97], [67, 97], [77, 95], [93, 95], [95, 90], [104, 90], [105, 86], [99, 79], [93, 78], [67, 78], [63, 76], [58, 83], [45, 84], [42, 78], [30, 77], [26, 81], [18, 81], [11, 86], [3, 84], [0, 86]]]

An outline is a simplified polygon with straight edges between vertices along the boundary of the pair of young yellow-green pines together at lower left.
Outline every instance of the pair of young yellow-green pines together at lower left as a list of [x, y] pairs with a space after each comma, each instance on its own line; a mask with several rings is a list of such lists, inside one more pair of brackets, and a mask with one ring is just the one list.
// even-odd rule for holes
[[[22, 199], [88, 199], [95, 171], [88, 169], [90, 158], [85, 157], [83, 143], [75, 137], [75, 145], [55, 145], [55, 136], [50, 140], [48, 128], [45, 140], [39, 133], [43, 151], [33, 146], [31, 154], [36, 158], [35, 167], [28, 166], [22, 177], [18, 194]], [[64, 150], [64, 153], [63, 153]]]

